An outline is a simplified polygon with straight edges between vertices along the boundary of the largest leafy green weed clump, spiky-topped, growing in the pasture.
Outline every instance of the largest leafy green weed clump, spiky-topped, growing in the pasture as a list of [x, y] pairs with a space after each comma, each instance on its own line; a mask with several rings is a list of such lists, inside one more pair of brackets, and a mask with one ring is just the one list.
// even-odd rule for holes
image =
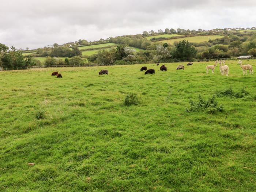
[[222, 105], [218, 106], [218, 102], [215, 100], [215, 95], [205, 101], [201, 95], [198, 96], [198, 101], [190, 100], [190, 107], [186, 108], [186, 112], [196, 112], [196, 111], [206, 111], [209, 114], [214, 114], [216, 112], [222, 112], [224, 109]]

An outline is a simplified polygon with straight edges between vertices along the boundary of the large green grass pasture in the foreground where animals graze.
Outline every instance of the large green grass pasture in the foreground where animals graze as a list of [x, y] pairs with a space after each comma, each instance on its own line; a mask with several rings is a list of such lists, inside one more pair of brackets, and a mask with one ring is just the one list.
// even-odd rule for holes
[[[0, 72], [0, 191], [256, 191], [256, 74], [237, 61], [228, 77], [206, 74], [213, 63]], [[230, 87], [248, 95], [185, 112]], [[138, 105], [124, 105], [128, 93]]]

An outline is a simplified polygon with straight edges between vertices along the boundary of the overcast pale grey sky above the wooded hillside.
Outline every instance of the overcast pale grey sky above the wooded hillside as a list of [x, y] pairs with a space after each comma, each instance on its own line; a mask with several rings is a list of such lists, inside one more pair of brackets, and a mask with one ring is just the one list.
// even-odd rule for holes
[[165, 28], [256, 26], [256, 0], [0, 0], [0, 43], [30, 49]]

